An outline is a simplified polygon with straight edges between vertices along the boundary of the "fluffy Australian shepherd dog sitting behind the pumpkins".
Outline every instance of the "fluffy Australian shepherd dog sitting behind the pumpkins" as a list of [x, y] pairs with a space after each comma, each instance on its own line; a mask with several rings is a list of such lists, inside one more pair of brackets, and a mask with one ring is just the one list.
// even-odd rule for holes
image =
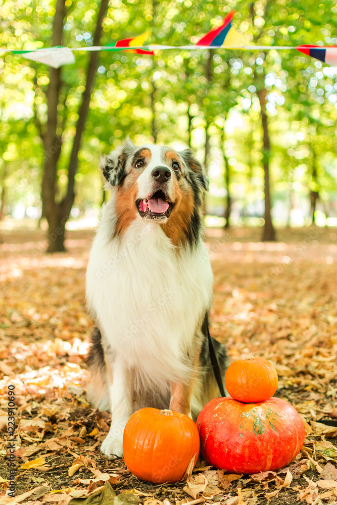
[[[97, 324], [87, 396], [112, 414], [102, 443], [122, 456], [125, 424], [142, 407], [196, 419], [219, 394], [208, 347], [213, 274], [203, 242], [208, 179], [190, 149], [129, 139], [101, 160], [106, 189], [86, 274]], [[213, 340], [222, 375], [224, 345]]]

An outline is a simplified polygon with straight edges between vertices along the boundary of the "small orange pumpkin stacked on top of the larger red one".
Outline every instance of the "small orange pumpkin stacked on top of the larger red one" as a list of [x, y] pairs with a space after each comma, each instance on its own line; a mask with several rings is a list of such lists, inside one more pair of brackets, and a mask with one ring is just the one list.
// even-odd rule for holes
[[277, 372], [264, 358], [244, 358], [234, 361], [227, 369], [225, 386], [237, 401], [258, 403], [272, 397], [277, 389]]

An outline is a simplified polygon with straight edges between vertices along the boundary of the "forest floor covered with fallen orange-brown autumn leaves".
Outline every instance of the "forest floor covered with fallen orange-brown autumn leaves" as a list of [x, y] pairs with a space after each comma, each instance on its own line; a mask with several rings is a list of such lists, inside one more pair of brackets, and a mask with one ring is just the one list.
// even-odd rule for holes
[[[215, 282], [211, 334], [230, 360], [263, 356], [277, 396], [302, 415], [304, 447], [277, 472], [231, 475], [199, 461], [187, 483], [154, 486], [102, 455], [109, 415], [85, 399], [93, 326], [85, 309], [92, 230], [43, 252], [41, 230], [0, 228], [0, 503], [337, 503], [337, 229], [208, 229]], [[15, 386], [15, 497], [10, 497], [8, 386]], [[12, 386], [11, 386], [12, 387]], [[117, 497], [114, 497], [114, 495]]]

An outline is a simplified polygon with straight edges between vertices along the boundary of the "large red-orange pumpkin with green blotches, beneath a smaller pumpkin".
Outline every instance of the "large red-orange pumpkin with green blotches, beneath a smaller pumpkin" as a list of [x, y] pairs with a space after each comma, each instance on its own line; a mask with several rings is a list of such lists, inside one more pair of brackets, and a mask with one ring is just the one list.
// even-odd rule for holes
[[234, 473], [285, 467], [305, 436], [300, 415], [281, 398], [260, 403], [214, 398], [199, 414], [197, 427], [206, 460]]

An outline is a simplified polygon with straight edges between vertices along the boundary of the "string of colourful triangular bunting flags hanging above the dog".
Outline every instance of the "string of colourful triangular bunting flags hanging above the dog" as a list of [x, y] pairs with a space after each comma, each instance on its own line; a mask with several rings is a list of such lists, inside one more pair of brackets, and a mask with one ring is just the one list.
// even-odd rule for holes
[[54, 68], [59, 68], [62, 65], [70, 65], [75, 63], [74, 52], [76, 51], [125, 51], [140, 55], [153, 56], [159, 51], [167, 49], [244, 49], [246, 51], [274, 51], [297, 49], [301, 53], [316, 58], [328, 65], [337, 66], [337, 46], [318, 46], [304, 44], [299, 46], [275, 46], [275, 45], [248, 45], [244, 36], [241, 35], [233, 26], [232, 19], [235, 11], [231, 11], [223, 19], [222, 24], [217, 28], [212, 29], [204, 35], [198, 42], [190, 45], [160, 45], [160, 44], [144, 44], [150, 35], [150, 31], [146, 31], [141, 35], [117, 40], [111, 44], [104, 46], [86, 46], [86, 47], [46, 47], [35, 49], [34, 51], [13, 50], [0, 48], [0, 52], [14, 53], [22, 55], [28, 60], [45, 63]]

